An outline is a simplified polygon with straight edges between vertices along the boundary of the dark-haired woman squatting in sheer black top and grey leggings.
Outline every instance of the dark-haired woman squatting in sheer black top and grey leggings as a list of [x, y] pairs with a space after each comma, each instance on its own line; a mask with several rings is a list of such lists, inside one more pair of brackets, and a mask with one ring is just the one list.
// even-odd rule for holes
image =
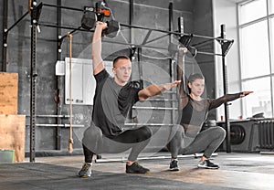
[[187, 82], [189, 93], [184, 90], [183, 68], [185, 47], [180, 47], [178, 52], [177, 79], [182, 79], [177, 86], [178, 113], [180, 125], [175, 125], [172, 130], [173, 138], [168, 144], [172, 160], [171, 171], [178, 171], [178, 154], [193, 154], [204, 152], [198, 164], [199, 168], [217, 169], [218, 165], [209, 161], [212, 153], [224, 141], [226, 131], [221, 127], [211, 127], [203, 132], [201, 128], [206, 120], [208, 111], [215, 109], [227, 101], [237, 100], [247, 96], [253, 91], [243, 91], [236, 94], [227, 94], [216, 100], [201, 97], [205, 90], [205, 78], [202, 74], [190, 75]]

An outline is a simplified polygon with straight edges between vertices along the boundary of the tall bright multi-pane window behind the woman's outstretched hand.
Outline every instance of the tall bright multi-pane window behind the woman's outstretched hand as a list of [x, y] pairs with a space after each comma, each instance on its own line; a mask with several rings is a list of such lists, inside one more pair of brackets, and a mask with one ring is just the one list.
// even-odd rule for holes
[[249, 0], [238, 4], [241, 85], [253, 90], [243, 99], [243, 115], [263, 112], [273, 117], [274, 0]]

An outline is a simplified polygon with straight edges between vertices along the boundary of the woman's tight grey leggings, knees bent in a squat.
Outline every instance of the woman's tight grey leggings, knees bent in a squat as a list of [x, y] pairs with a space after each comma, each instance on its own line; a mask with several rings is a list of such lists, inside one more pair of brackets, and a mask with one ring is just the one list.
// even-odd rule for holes
[[173, 138], [168, 143], [167, 148], [171, 152], [172, 158], [177, 158], [178, 154], [192, 154], [204, 152], [204, 156], [209, 158], [216, 151], [226, 137], [226, 131], [221, 127], [211, 127], [200, 132], [195, 140], [184, 147], [184, 128], [175, 125], [172, 129]]

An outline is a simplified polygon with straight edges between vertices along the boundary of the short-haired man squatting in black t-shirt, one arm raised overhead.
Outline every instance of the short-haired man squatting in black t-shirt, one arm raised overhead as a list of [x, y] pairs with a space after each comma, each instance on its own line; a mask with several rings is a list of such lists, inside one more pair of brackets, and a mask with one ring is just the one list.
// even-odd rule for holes
[[134, 103], [156, 96], [179, 84], [180, 80], [141, 89], [137, 82], [129, 82], [132, 74], [130, 58], [120, 56], [113, 60], [114, 78], [106, 71], [101, 58], [101, 33], [107, 24], [98, 22], [92, 38], [93, 75], [96, 79], [92, 123], [84, 132], [85, 164], [80, 177], [90, 177], [94, 153], [120, 153], [132, 148], [126, 163], [126, 173], [146, 174], [150, 170], [136, 162], [139, 153], [148, 144], [152, 132], [147, 126], [123, 131], [124, 122]]

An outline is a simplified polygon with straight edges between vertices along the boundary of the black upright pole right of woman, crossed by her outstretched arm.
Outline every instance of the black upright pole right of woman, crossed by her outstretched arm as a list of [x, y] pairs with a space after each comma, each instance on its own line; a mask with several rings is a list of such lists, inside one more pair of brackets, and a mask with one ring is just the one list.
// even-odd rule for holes
[[[227, 63], [226, 63], [226, 51], [224, 50], [224, 40], [226, 38], [226, 26], [221, 25], [221, 48], [222, 48], [222, 66], [223, 66], [223, 85], [224, 85], [224, 94], [227, 94]], [[227, 130], [227, 153], [231, 153], [230, 146], [230, 122], [229, 122], [229, 111], [228, 104], [225, 103], [225, 121], [226, 121], [226, 130]]]

